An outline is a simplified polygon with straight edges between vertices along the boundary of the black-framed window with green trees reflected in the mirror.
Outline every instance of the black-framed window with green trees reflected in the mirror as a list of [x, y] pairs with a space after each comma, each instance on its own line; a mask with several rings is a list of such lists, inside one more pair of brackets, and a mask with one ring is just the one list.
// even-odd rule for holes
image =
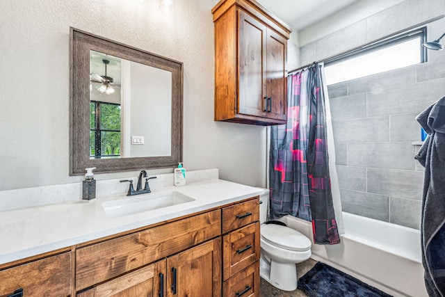
[[120, 104], [90, 101], [90, 158], [118, 158], [121, 154]]

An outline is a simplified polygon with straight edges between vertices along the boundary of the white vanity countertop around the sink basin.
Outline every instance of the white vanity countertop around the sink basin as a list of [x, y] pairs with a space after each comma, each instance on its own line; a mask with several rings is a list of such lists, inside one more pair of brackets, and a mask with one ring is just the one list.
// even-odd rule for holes
[[[177, 191], [195, 201], [108, 218], [103, 202], [142, 198]], [[219, 207], [256, 195], [261, 188], [212, 179], [186, 186], [158, 188], [152, 193], [127, 197], [108, 195], [91, 201], [78, 200], [0, 212], [0, 264], [13, 262], [51, 250], [118, 234], [180, 216]]]

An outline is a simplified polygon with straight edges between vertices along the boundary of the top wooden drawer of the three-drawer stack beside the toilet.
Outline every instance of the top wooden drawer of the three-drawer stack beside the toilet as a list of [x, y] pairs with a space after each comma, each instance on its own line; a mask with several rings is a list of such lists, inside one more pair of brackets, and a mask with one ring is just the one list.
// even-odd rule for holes
[[259, 220], [259, 198], [223, 208], [223, 234]]

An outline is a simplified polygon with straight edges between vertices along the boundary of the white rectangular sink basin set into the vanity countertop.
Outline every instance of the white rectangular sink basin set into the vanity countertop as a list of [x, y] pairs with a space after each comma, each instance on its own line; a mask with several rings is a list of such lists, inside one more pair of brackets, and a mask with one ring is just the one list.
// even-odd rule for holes
[[150, 193], [103, 202], [102, 207], [104, 207], [106, 216], [115, 218], [118, 216], [127, 216], [129, 214], [138, 214], [144, 211], [163, 209], [165, 207], [172, 207], [177, 204], [192, 201], [195, 201], [195, 199], [177, 191], [171, 191], [165, 193]]

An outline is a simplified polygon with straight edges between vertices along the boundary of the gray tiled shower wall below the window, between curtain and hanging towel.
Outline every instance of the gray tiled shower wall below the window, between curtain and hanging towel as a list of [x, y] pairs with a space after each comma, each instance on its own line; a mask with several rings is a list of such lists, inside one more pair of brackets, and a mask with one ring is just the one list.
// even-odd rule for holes
[[426, 71], [414, 65], [328, 87], [343, 211], [420, 227], [415, 116], [445, 95], [445, 75], [417, 82], [418, 67]]

